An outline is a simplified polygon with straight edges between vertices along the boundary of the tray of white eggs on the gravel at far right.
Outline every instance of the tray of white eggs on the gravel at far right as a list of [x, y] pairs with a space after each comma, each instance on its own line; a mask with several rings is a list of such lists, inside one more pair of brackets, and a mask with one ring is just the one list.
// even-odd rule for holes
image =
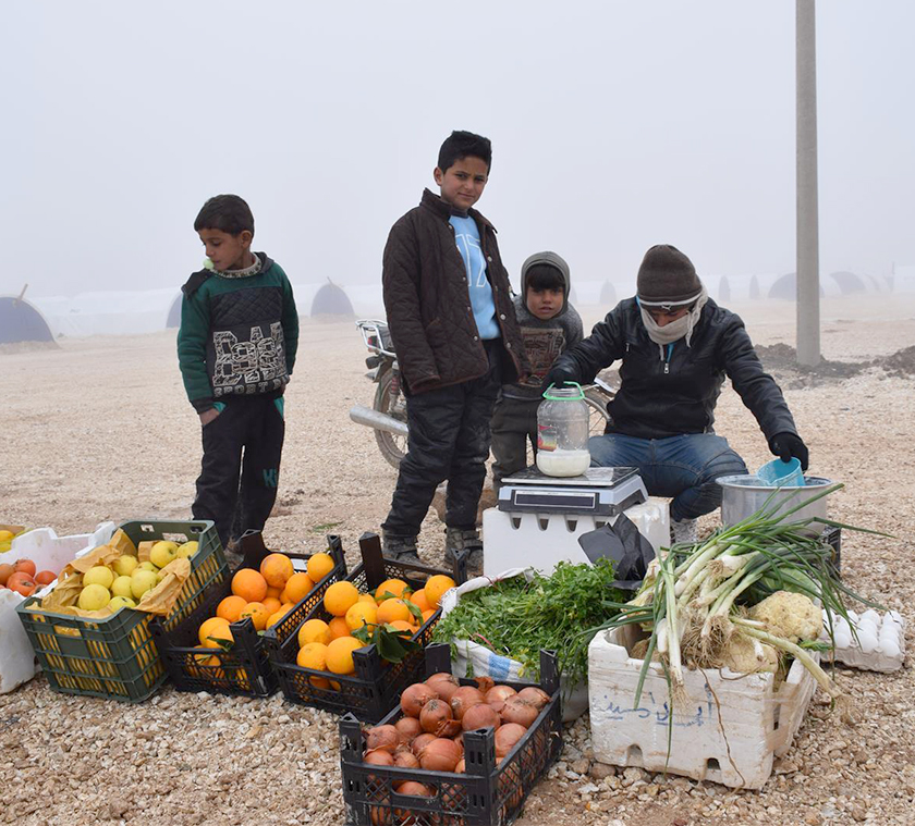
[[[820, 642], [832, 642], [827, 627], [828, 615], [823, 611], [823, 628]], [[849, 612], [855, 633], [842, 617], [832, 618], [834, 648], [823, 653], [825, 659], [859, 668], [865, 671], [898, 671], [905, 661], [905, 620], [895, 611], [881, 614], [865, 611], [861, 616]]]

